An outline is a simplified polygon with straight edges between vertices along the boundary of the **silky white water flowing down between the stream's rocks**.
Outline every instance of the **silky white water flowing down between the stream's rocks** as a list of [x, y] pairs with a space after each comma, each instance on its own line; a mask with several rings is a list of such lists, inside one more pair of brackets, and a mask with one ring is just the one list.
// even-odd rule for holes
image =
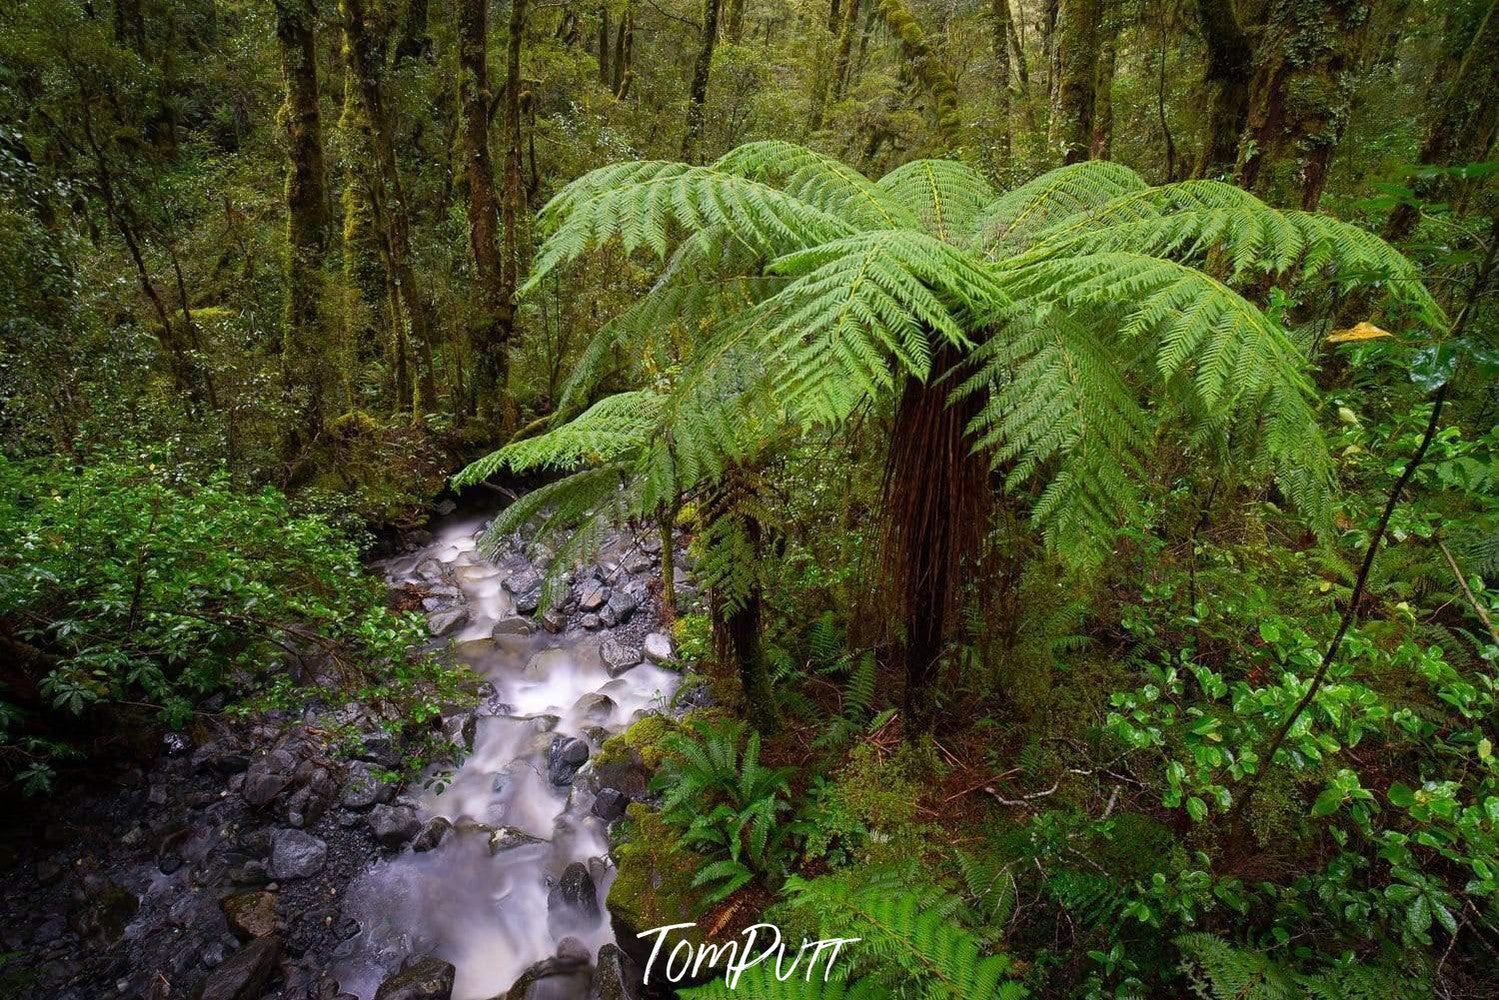
[[[549, 748], [576, 736], [597, 753], [609, 733], [661, 708], [678, 678], [651, 663], [610, 678], [598, 652], [607, 630], [492, 636], [516, 613], [507, 576], [528, 567], [487, 559], [477, 546], [483, 523], [439, 523], [429, 546], [387, 567], [393, 586], [457, 588], [469, 619], [453, 636], [454, 654], [489, 684], [472, 753], [441, 790], [409, 793], [423, 820], [441, 816], [454, 829], [435, 850], [408, 847], [349, 886], [345, 913], [361, 930], [339, 982], [361, 1000], [409, 955], [453, 963], [454, 1000], [487, 1000], [558, 954], [564, 939], [592, 955], [613, 940], [603, 906], [613, 880], [606, 823], [591, 814], [594, 796], [582, 778], [552, 783]], [[573, 862], [591, 870], [597, 916], [555, 898]]]

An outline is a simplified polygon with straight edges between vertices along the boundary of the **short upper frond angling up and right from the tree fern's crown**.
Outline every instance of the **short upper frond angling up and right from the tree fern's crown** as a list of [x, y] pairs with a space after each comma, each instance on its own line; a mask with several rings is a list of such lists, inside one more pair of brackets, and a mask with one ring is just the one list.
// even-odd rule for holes
[[1139, 174], [1109, 160], [1061, 166], [994, 199], [973, 217], [965, 243], [991, 261], [1001, 259], [1058, 223], [1145, 189]]

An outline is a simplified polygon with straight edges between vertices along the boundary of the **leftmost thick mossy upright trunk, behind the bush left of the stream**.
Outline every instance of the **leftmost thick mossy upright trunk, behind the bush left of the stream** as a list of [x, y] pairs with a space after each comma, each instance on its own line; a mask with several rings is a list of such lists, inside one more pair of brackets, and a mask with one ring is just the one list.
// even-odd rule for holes
[[286, 102], [286, 319], [282, 333], [282, 376], [298, 414], [288, 451], [318, 436], [325, 415], [327, 376], [333, 370], [328, 342], [318, 322], [324, 255], [328, 252], [328, 184], [318, 114], [318, 46], [307, 0], [277, 0], [276, 40], [280, 45]]

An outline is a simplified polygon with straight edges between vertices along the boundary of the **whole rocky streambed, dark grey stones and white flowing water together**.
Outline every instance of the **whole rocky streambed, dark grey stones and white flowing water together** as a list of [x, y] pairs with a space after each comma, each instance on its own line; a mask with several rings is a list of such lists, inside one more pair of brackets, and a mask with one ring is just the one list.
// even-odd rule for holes
[[[639, 996], [606, 897], [612, 826], [648, 775], [603, 751], [681, 711], [652, 600], [660, 541], [607, 540], [535, 615], [541, 570], [519, 540], [486, 558], [483, 525], [450, 516], [381, 567], [478, 678], [478, 705], [442, 720], [460, 766], [384, 781], [403, 750], [360, 705], [168, 733], [148, 768], [12, 832], [0, 996]], [[352, 759], [333, 751], [349, 733]]]

